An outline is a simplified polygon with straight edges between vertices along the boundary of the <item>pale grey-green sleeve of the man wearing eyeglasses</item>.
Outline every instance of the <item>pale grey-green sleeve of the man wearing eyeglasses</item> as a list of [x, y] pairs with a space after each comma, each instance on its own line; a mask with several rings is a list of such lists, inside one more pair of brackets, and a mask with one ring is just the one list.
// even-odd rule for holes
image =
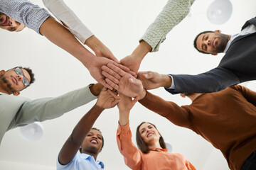
[[55, 98], [26, 101], [16, 116], [16, 126], [58, 118], [60, 115], [85, 105], [95, 98], [97, 97], [92, 95], [89, 86], [86, 86]]

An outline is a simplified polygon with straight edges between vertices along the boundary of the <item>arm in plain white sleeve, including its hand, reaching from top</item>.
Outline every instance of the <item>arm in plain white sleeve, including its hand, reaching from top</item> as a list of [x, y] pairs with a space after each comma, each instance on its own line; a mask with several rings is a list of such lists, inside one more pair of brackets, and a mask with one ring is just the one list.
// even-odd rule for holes
[[70, 30], [82, 44], [90, 47], [96, 56], [107, 57], [114, 62], [119, 62], [112, 52], [93, 35], [93, 33], [80, 21], [75, 13], [65, 4], [63, 0], [42, 0], [46, 8]]

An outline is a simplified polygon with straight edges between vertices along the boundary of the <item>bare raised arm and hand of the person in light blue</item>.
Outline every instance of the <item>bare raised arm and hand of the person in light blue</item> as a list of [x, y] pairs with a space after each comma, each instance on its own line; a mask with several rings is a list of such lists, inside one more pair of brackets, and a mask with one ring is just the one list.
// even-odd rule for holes
[[93, 106], [91, 110], [82, 117], [60, 150], [60, 154], [58, 156], [60, 164], [69, 164], [73, 160], [87, 133], [92, 128], [92, 125], [95, 123], [95, 120], [97, 120], [100, 113], [102, 113], [105, 108], [112, 108], [116, 106], [118, 101], [119, 99], [117, 99], [116, 94], [112, 96], [107, 89], [102, 89], [95, 106]]

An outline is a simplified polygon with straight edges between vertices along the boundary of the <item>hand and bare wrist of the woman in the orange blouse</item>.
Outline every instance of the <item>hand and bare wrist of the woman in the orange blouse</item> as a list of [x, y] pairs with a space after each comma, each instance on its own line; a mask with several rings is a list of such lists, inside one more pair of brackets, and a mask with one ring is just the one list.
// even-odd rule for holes
[[119, 109], [119, 124], [126, 125], [129, 122], [129, 112], [139, 98], [136, 97], [132, 100], [132, 98], [124, 96], [123, 94], [119, 94], [119, 98], [121, 98], [121, 101], [117, 104]]

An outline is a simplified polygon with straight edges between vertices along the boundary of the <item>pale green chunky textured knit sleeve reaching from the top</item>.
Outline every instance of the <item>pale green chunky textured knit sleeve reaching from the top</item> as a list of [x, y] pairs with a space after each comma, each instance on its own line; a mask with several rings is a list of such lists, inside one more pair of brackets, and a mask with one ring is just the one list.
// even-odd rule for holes
[[171, 29], [188, 15], [194, 1], [169, 0], [139, 41], [146, 41], [152, 47], [151, 52], [158, 51]]

